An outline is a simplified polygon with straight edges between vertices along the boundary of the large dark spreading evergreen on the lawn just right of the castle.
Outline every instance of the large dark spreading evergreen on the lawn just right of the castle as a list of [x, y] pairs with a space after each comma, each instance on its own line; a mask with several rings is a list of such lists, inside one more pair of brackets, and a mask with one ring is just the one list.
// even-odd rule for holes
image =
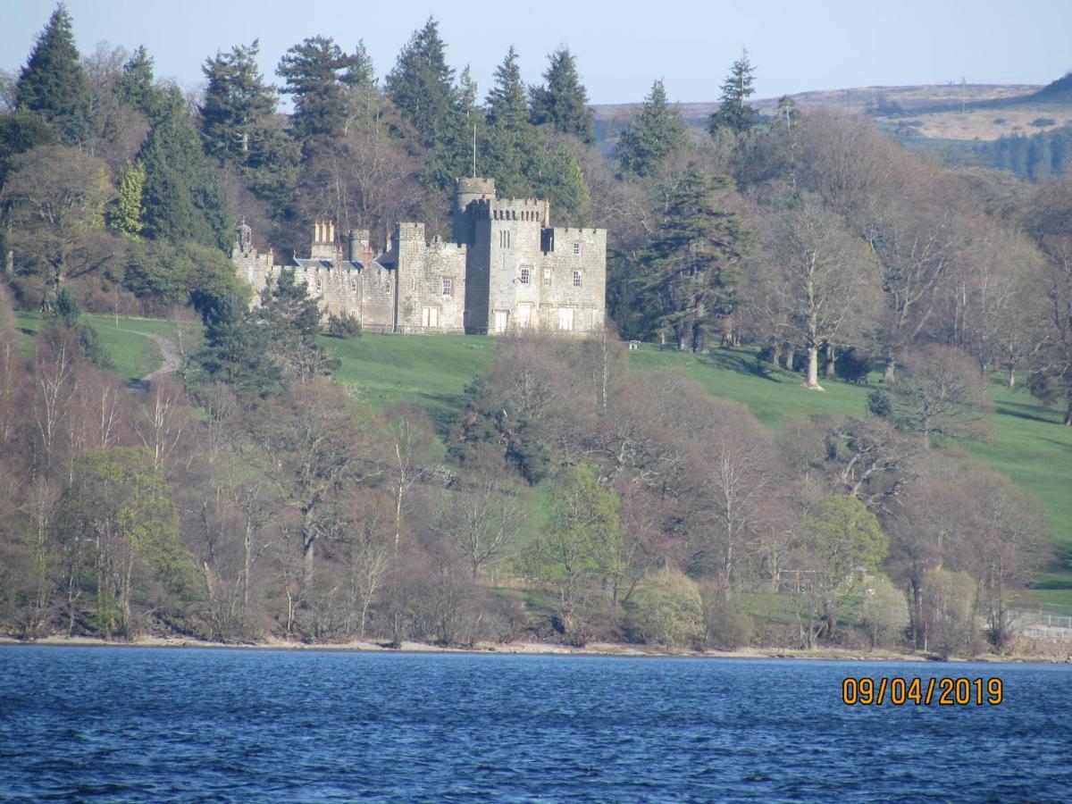
[[645, 250], [639, 300], [655, 330], [670, 330], [694, 352], [719, 316], [741, 303], [736, 286], [748, 236], [719, 209], [708, 178], [687, 174], [670, 195], [666, 220]]

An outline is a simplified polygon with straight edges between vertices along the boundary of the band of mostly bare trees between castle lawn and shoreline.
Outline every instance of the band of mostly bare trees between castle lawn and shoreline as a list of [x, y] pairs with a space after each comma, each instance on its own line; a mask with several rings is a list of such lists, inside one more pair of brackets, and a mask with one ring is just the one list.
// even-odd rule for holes
[[[1010, 601], [1045, 559], [1023, 492], [927, 445], [954, 353], [906, 361], [884, 415], [775, 438], [693, 381], [628, 371], [614, 338], [509, 337], [444, 455], [419, 408], [377, 413], [326, 378], [315, 313], [284, 282], [210, 318], [185, 388], [131, 392], [59, 324], [21, 357], [4, 312], [0, 627], [718, 647], [910, 635], [963, 653], [979, 617], [1009, 644]], [[929, 432], [970, 418], [946, 411]]]

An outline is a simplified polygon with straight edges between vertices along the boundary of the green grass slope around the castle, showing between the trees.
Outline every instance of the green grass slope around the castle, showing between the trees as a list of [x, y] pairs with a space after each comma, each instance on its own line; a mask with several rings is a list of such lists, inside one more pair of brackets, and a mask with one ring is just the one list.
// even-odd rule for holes
[[[161, 361], [157, 344], [134, 332], [173, 340], [179, 334], [179, 325], [173, 322], [120, 317], [117, 329], [111, 316], [91, 315], [88, 319], [125, 378], [143, 376]], [[27, 333], [41, 326], [34, 314], [19, 314], [18, 323]], [[197, 337], [197, 326], [181, 326], [189, 348]], [[465, 386], [491, 362], [495, 345], [493, 338], [471, 336], [367, 334], [352, 340], [325, 336], [321, 342], [342, 360], [336, 376], [339, 382], [375, 407], [401, 399], [420, 405], [441, 435], [452, 423]], [[24, 346], [32, 347], [29, 338]], [[629, 353], [629, 364], [639, 371], [681, 372], [712, 396], [746, 405], [764, 426], [775, 430], [793, 416], [862, 416], [869, 390], [835, 381], [823, 382], [823, 393], [808, 391], [801, 387], [800, 375], [760, 364], [746, 352], [691, 355], [642, 344]], [[995, 384], [991, 394], [996, 437], [969, 444], [966, 450], [1027, 490], [1046, 509], [1057, 562], [1040, 576], [1033, 596], [1039, 602], [1072, 610], [1072, 428], [1061, 427], [1056, 411], [1037, 404], [1024, 391], [1008, 391]]]

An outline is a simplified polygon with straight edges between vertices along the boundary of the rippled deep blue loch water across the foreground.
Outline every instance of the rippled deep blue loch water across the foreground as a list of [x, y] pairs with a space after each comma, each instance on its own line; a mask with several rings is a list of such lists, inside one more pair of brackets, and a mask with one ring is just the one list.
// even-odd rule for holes
[[0, 799], [1069, 801], [1072, 668], [4, 646]]

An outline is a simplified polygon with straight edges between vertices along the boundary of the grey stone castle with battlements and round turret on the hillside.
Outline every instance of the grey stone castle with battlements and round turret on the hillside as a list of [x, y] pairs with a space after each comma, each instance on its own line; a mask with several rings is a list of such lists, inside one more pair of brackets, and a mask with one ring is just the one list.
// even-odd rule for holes
[[[310, 258], [280, 267], [327, 313], [367, 331], [602, 331], [607, 230], [553, 228], [550, 212], [546, 199], [496, 198], [494, 179], [458, 179], [449, 242], [426, 240], [422, 223], [399, 223], [381, 254], [367, 229], [351, 229], [344, 254], [334, 224], [317, 220]], [[232, 258], [257, 291], [277, 273], [244, 223]]]

